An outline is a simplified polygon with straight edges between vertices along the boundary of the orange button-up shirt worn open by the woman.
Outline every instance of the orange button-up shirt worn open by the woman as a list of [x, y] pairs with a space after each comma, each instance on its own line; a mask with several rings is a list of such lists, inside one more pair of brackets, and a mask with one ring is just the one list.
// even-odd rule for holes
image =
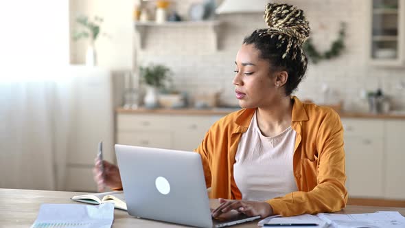
[[[293, 170], [298, 192], [268, 199], [274, 214], [295, 216], [337, 212], [347, 203], [343, 126], [327, 107], [304, 104], [292, 96], [291, 126], [297, 132]], [[201, 155], [210, 198], [241, 199], [233, 179], [240, 138], [255, 109], [242, 109], [213, 124], [196, 152]]]

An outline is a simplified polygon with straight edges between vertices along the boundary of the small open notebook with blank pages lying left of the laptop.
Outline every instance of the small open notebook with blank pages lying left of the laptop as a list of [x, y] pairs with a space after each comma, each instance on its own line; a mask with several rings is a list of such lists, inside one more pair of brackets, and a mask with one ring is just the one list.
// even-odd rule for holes
[[114, 203], [114, 207], [118, 209], [126, 209], [126, 202], [124, 198], [124, 192], [114, 191], [114, 192], [102, 192], [95, 194], [86, 194], [73, 196], [71, 198], [73, 201], [79, 201], [82, 203], [100, 204], [100, 203]]

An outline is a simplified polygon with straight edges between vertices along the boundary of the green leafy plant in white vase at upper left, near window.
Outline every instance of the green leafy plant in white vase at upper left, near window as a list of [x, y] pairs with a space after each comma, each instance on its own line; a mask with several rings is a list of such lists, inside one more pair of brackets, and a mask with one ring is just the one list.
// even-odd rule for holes
[[81, 15], [76, 18], [76, 22], [84, 27], [84, 30], [73, 32], [73, 41], [78, 41], [82, 38], [90, 38], [89, 45], [86, 49], [86, 65], [95, 66], [97, 64], [97, 56], [94, 43], [100, 34], [100, 25], [103, 22], [102, 17], [94, 16], [90, 20], [87, 16]]

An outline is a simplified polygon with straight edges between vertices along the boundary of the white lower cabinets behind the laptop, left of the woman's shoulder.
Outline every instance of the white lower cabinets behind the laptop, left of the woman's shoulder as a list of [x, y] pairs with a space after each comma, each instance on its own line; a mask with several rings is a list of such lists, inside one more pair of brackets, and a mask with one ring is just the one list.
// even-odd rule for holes
[[211, 115], [117, 114], [117, 143], [192, 151], [213, 120]]

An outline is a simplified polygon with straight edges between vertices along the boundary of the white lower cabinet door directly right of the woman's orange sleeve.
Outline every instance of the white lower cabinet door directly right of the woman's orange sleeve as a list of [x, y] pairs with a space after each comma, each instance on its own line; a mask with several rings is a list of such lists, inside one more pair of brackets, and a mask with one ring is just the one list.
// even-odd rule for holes
[[384, 197], [384, 121], [342, 119], [349, 197]]

